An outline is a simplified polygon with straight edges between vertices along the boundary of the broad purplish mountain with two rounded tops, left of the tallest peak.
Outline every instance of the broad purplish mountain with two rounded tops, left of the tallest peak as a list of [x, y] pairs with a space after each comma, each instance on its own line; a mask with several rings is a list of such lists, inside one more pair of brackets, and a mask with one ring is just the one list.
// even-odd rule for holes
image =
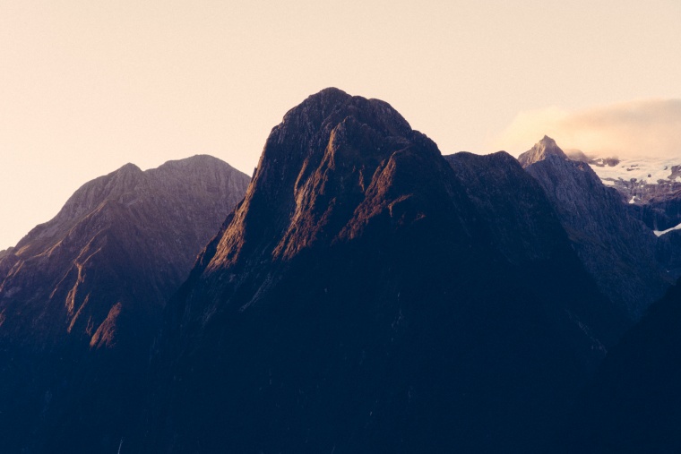
[[248, 182], [210, 156], [127, 164], [0, 255], [4, 450], [118, 448], [163, 306]]

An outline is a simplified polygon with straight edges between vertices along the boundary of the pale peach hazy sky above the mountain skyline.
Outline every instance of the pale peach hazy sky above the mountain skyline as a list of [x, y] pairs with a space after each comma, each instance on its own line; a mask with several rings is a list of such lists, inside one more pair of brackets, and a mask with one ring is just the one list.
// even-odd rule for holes
[[0, 0], [0, 249], [126, 162], [208, 153], [250, 175], [328, 86], [445, 154], [517, 155], [551, 129], [681, 157], [679, 24], [679, 0]]

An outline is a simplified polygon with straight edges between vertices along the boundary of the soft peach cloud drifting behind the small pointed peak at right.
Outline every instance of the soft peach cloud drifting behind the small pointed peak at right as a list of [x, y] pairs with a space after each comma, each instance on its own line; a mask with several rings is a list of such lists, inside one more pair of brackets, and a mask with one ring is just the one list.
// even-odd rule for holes
[[514, 155], [544, 136], [588, 155], [681, 158], [681, 99], [644, 99], [569, 112], [521, 112], [492, 145]]

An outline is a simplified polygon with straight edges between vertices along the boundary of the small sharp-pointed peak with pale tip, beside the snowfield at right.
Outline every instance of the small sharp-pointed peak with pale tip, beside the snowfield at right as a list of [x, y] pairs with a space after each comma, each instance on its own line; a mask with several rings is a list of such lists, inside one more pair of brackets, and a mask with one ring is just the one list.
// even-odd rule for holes
[[599, 289], [635, 320], [672, 280], [656, 258], [656, 236], [583, 162], [544, 136], [519, 162], [547, 193], [573, 247]]

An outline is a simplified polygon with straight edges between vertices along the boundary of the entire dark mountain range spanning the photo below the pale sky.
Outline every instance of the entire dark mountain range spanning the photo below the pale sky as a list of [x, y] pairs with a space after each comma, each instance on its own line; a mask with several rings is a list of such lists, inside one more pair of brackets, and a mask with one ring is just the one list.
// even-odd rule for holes
[[681, 243], [646, 213], [676, 196], [588, 160], [443, 156], [326, 89], [252, 180], [199, 156], [85, 184], [0, 253], [6, 450], [671, 451]]

